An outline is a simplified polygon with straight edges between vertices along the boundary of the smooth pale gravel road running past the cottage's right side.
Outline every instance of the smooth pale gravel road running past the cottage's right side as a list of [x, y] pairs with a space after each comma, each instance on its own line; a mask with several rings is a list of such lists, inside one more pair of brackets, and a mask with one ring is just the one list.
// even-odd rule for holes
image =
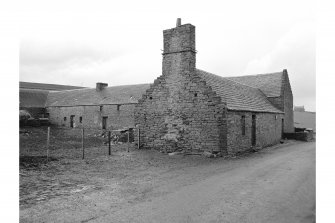
[[[213, 167], [212, 167], [213, 168]], [[315, 143], [260, 152], [92, 222], [315, 222]]]

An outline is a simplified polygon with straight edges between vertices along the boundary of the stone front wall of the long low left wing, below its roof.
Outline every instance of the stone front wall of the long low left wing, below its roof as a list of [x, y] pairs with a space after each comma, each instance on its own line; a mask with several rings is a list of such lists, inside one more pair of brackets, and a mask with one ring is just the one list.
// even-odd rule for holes
[[108, 129], [122, 129], [134, 126], [134, 107], [134, 104], [103, 105], [101, 110], [100, 106], [48, 107], [47, 111], [50, 122], [59, 126], [70, 127], [70, 116], [75, 115], [76, 127], [102, 129], [102, 117], [106, 116]]

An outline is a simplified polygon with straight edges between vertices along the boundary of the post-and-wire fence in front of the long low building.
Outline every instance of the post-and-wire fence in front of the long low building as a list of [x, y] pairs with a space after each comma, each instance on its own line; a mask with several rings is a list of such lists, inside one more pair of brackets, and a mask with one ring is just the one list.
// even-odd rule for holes
[[21, 159], [87, 159], [133, 147], [134, 129], [101, 130], [56, 126], [20, 129]]

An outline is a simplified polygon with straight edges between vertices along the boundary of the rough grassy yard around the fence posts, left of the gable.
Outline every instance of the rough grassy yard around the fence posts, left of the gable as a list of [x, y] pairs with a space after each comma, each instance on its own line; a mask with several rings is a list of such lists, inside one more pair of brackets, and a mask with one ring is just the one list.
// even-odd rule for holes
[[[160, 173], [210, 163], [205, 157], [170, 157], [150, 150], [137, 150], [133, 143], [112, 145], [101, 130], [85, 130], [82, 159], [81, 130], [51, 128], [50, 158], [46, 160], [47, 127], [20, 129], [20, 209], [51, 199], [91, 193], [111, 185], [122, 185], [116, 203], [142, 197], [152, 188], [152, 177]], [[128, 152], [129, 148], [129, 152]], [[164, 183], [165, 179], [161, 179]], [[158, 182], [156, 182], [158, 183]]]

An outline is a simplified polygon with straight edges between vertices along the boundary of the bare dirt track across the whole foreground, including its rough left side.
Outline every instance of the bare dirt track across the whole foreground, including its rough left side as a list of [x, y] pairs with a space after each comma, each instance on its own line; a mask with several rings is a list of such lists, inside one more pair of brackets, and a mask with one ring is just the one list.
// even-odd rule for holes
[[[93, 179], [99, 189], [21, 208], [20, 220], [315, 221], [315, 143], [281, 145], [229, 160], [161, 156], [176, 166], [164, 169], [152, 160], [147, 168], [117, 181]], [[178, 164], [190, 161], [195, 164]]]

